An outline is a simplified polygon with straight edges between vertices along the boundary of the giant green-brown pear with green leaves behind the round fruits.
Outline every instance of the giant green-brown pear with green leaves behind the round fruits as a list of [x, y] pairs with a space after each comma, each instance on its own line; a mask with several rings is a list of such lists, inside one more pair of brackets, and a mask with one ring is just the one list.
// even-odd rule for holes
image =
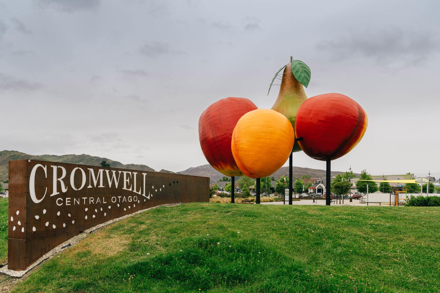
[[[307, 87], [308, 82], [310, 81], [310, 69], [304, 62], [299, 60], [293, 60], [289, 64], [283, 66], [283, 68], [284, 71], [282, 73], [278, 98], [271, 109], [286, 116], [292, 124], [293, 129], [295, 129], [295, 119], [298, 109], [301, 104], [307, 100], [304, 86]], [[282, 68], [277, 72], [274, 80], [281, 70]], [[292, 152], [299, 151], [301, 151], [301, 147], [298, 142], [295, 142]]]

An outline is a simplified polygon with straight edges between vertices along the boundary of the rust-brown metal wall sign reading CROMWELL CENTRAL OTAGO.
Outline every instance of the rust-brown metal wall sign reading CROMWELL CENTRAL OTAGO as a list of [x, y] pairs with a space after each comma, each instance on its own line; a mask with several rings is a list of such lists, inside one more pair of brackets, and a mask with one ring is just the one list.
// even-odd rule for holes
[[166, 203], [208, 201], [208, 177], [10, 161], [8, 268], [24, 270], [97, 224]]

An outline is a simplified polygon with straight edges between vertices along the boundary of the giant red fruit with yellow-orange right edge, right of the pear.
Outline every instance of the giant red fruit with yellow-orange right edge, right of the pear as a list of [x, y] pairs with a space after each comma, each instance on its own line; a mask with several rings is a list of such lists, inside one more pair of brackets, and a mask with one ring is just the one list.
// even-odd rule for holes
[[296, 137], [313, 159], [334, 160], [350, 152], [367, 130], [362, 107], [343, 94], [320, 94], [307, 99], [297, 112]]

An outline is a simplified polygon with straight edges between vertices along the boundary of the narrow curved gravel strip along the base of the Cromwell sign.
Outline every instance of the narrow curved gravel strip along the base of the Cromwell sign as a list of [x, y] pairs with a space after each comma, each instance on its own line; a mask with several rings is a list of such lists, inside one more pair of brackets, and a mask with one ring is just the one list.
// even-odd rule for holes
[[[181, 203], [168, 203], [165, 205], [161, 205], [161, 206], [175, 206]], [[116, 221], [121, 221], [127, 217], [131, 217], [133, 215], [136, 215], [138, 213], [143, 213], [147, 210], [151, 210], [151, 209], [155, 209], [157, 207], [160, 206], [154, 206], [154, 207], [150, 207], [148, 209], [145, 210], [139, 210], [137, 212], [134, 213], [130, 213], [128, 215], [110, 220], [110, 221], [106, 221], [102, 224], [98, 224], [95, 227], [92, 228], [88, 228], [87, 230], [81, 232], [79, 235], [74, 236], [72, 238], [70, 238], [69, 240], [67, 240], [64, 243], [61, 243], [59, 246], [55, 247], [53, 250], [49, 251], [48, 253], [44, 254], [42, 257], [40, 257], [37, 261], [35, 261], [33, 264], [31, 264], [28, 268], [26, 268], [26, 270], [24, 271], [14, 271], [14, 270], [9, 270], [7, 268], [7, 264], [3, 267], [0, 268], [0, 273], [4, 274], [4, 275], [10, 275], [11, 277], [15, 277], [15, 278], [21, 278], [23, 275], [25, 275], [28, 271], [32, 270], [33, 268], [35, 268], [38, 264], [41, 264], [44, 260], [47, 260], [48, 258], [53, 257], [55, 254], [59, 253], [62, 250], [65, 250], [66, 248], [73, 246], [75, 244], [77, 244], [78, 242], [80, 242], [82, 239], [86, 238], [88, 235], [90, 235], [92, 232], [94, 232], [95, 230], [102, 228], [106, 225], [112, 224]]]

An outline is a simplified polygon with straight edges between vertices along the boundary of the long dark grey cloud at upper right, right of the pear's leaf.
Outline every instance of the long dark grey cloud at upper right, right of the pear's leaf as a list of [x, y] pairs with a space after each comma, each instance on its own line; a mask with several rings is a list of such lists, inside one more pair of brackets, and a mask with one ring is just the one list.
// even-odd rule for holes
[[418, 65], [439, 52], [440, 44], [429, 33], [414, 33], [400, 29], [357, 33], [341, 40], [319, 43], [319, 50], [333, 53], [337, 59], [361, 56], [373, 58], [384, 66]]

